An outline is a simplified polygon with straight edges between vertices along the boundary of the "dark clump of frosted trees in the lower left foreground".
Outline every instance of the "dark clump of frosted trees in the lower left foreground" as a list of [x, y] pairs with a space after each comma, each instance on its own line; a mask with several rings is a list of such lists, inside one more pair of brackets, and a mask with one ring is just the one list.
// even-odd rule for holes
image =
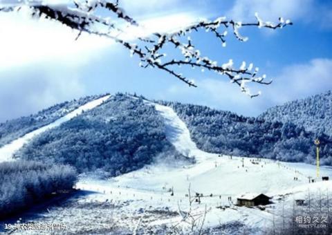
[[73, 167], [34, 161], [0, 163], [0, 219], [40, 203], [53, 192], [71, 190], [77, 181]]

